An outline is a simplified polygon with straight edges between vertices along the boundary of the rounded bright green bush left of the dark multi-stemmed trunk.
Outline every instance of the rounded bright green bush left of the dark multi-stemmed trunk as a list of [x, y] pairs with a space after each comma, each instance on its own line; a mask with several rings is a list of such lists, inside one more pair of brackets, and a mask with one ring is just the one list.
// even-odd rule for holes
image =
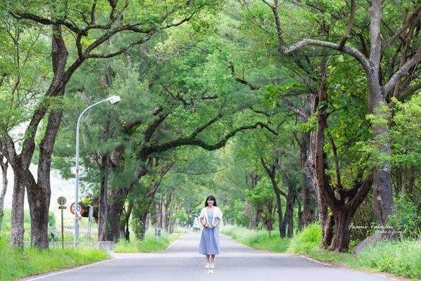
[[312, 223], [290, 240], [288, 251], [295, 254], [308, 254], [317, 251], [321, 243], [321, 236], [320, 224]]

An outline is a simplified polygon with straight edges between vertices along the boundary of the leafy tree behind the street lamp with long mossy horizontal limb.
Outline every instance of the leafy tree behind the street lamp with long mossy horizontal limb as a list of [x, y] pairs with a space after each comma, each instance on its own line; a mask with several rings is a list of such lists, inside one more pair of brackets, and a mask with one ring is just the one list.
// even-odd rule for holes
[[[190, 31], [192, 29], [190, 25], [183, 28]], [[121, 57], [119, 61], [114, 60], [105, 67], [98, 66], [99, 69], [104, 68], [105, 73], [98, 73], [100, 79], [93, 78], [93, 84], [85, 82], [86, 89], [98, 89], [102, 86], [107, 91], [118, 89], [123, 98], [119, 104], [119, 112], [102, 114], [98, 119], [93, 119], [102, 128], [100, 131], [93, 131], [93, 136], [99, 133], [103, 136], [102, 140], [92, 141], [95, 137], [88, 137], [92, 146], [87, 151], [89, 156], [86, 164], [94, 164], [95, 169], [101, 170], [98, 192], [100, 240], [119, 239], [120, 228], [117, 224], [126, 199], [132, 196], [131, 192], [136, 201], [133, 215], [137, 217], [136, 221], [142, 222], [136, 223], [138, 226], [145, 225], [150, 209], [148, 206], [154, 201], [155, 195], [155, 192], [147, 190], [154, 190], [154, 183], [139, 185], [139, 181], [142, 181], [142, 177], [154, 174], [154, 159], [171, 161], [172, 151], [186, 145], [218, 150], [241, 131], [258, 128], [272, 131], [260, 118], [250, 115], [251, 112], [246, 121], [241, 120], [237, 122], [238, 125], [230, 124], [230, 120], [240, 117], [245, 110], [236, 103], [244, 94], [236, 93], [235, 84], [223, 75], [214, 78], [218, 79], [219, 84], [208, 84], [208, 72], [215, 71], [215, 63], [206, 63], [206, 59], [217, 48], [213, 45], [206, 46], [207, 42], [203, 41], [198, 46], [186, 46], [184, 40], [187, 37], [179, 37], [179, 32], [174, 32], [176, 34], [169, 32], [168, 40], [163, 41], [162, 44], [166, 44], [165, 49], [161, 51], [159, 44], [156, 48], [151, 46], [149, 49], [159, 52], [163, 59], [158, 55], [144, 58], [133, 51], [126, 58]], [[178, 53], [180, 49], [182, 52]], [[169, 62], [165, 59], [168, 56], [172, 58]], [[124, 64], [131, 65], [132, 70], [121, 71]], [[78, 96], [81, 95], [79, 88], [75, 89]], [[142, 91], [147, 93], [147, 99]], [[82, 94], [85, 95], [83, 92]], [[112, 134], [109, 133], [111, 131]], [[136, 196], [139, 198], [135, 198]], [[137, 235], [142, 237], [144, 229], [139, 229]]]

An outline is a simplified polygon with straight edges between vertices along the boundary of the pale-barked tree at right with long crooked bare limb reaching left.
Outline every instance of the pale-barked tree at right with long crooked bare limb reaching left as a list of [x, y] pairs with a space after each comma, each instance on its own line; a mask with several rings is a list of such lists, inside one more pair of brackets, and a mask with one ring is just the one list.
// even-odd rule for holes
[[[351, 55], [355, 58], [366, 73], [366, 79], [368, 81], [368, 112], [371, 114], [381, 117], [385, 115], [382, 111], [382, 105], [386, 105], [391, 96], [395, 98], [406, 98], [411, 93], [414, 93], [419, 89], [419, 85], [410, 86], [413, 77], [410, 73], [415, 71], [417, 63], [421, 61], [421, 49], [417, 49], [412, 46], [415, 42], [413, 37], [413, 30], [419, 22], [417, 17], [418, 12], [421, 9], [420, 4], [413, 4], [408, 6], [403, 11], [404, 22], [396, 32], [391, 31], [391, 36], [387, 41], [383, 42], [381, 25], [382, 25], [382, 8], [384, 4], [382, 1], [376, 0], [370, 2], [370, 51], [366, 48], [363, 51], [359, 51], [353, 46], [347, 45], [349, 41], [350, 32], [354, 25], [355, 13], [356, 13], [356, 1], [352, 1], [351, 13], [349, 15], [347, 28], [342, 36], [340, 43], [333, 43], [330, 41], [321, 41], [315, 39], [302, 39], [297, 42], [293, 42], [290, 47], [286, 47], [283, 37], [283, 26], [279, 20], [279, 4], [277, 0], [273, 3], [262, 0], [272, 9], [274, 14], [274, 22], [276, 23], [276, 34], [278, 39], [278, 51], [280, 55], [288, 55], [298, 51], [298, 49], [304, 46], [319, 46], [323, 48], [331, 48], [341, 53]], [[399, 41], [399, 49], [397, 53], [401, 55], [401, 63], [399, 67], [392, 66], [391, 72], [389, 72], [389, 80], [385, 82], [385, 75], [382, 72], [382, 58], [385, 56], [387, 48], [396, 44]], [[365, 39], [362, 39], [362, 43], [365, 45]], [[410, 46], [411, 52], [408, 52], [407, 48]], [[401, 84], [401, 79], [405, 78], [405, 86]], [[416, 81], [416, 79], [415, 79]], [[383, 84], [385, 82], [385, 84]], [[404, 87], [404, 89], [402, 89]], [[392, 91], [394, 90], [394, 91]], [[392, 93], [393, 92], [393, 93]], [[387, 124], [373, 124], [373, 139], [377, 150], [386, 155], [390, 155], [390, 141], [389, 141], [389, 127]], [[375, 214], [378, 221], [385, 226], [387, 218], [393, 211], [393, 196], [392, 196], [392, 182], [391, 182], [391, 169], [389, 162], [381, 162], [374, 167], [373, 172], [373, 204]]]

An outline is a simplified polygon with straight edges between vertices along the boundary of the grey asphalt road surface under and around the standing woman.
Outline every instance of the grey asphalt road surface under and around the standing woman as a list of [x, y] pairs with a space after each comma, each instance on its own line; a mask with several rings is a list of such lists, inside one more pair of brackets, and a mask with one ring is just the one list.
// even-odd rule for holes
[[43, 281], [384, 281], [373, 273], [335, 268], [301, 256], [272, 254], [244, 247], [221, 235], [221, 254], [213, 272], [198, 254], [199, 234], [187, 234], [154, 254], [113, 254], [114, 259], [25, 280]]

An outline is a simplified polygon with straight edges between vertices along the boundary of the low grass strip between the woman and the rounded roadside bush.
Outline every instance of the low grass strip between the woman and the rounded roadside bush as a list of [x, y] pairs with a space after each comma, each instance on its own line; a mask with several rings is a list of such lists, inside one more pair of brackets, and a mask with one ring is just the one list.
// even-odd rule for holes
[[227, 225], [221, 228], [221, 233], [245, 244], [248, 247], [283, 253], [288, 249], [289, 240], [279, 237], [279, 233], [272, 231], [270, 236], [266, 230], [250, 230], [239, 226]]

